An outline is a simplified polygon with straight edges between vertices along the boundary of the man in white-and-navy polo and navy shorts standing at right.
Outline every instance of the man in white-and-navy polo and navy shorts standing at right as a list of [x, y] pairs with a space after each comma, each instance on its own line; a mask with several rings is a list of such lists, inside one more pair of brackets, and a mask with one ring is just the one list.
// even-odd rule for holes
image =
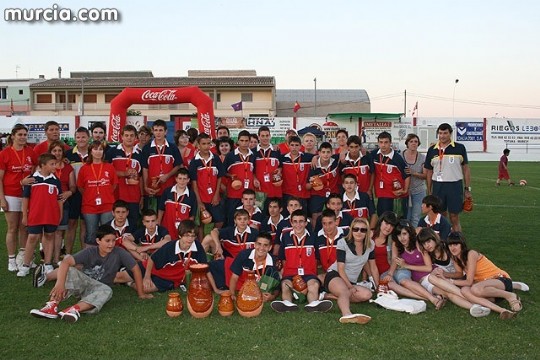
[[461, 231], [459, 213], [463, 210], [463, 195], [466, 199], [472, 198], [471, 172], [467, 149], [452, 141], [452, 131], [450, 124], [439, 125], [439, 141], [429, 147], [424, 167], [427, 169], [428, 194], [441, 199], [441, 211], [445, 216], [450, 213], [452, 230]]

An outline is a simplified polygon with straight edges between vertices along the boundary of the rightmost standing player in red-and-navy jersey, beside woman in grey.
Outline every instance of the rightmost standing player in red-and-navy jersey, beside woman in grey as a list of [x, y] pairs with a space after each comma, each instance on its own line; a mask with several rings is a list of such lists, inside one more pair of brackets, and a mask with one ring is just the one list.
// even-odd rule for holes
[[377, 137], [379, 149], [371, 153], [371, 184], [368, 194], [375, 190], [377, 215], [394, 211], [394, 199], [407, 196], [410, 175], [405, 173], [405, 160], [392, 149], [392, 135], [383, 131]]

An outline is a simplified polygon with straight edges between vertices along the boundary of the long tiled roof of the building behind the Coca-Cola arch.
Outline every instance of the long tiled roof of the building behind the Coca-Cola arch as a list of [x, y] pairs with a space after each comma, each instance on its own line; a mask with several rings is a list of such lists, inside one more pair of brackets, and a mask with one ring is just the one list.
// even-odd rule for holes
[[[50, 79], [31, 85], [31, 89], [80, 89], [81, 79]], [[123, 87], [273, 87], [276, 81], [273, 76], [254, 77], [159, 77], [159, 78], [87, 78], [84, 80], [85, 89], [92, 88], [123, 88]]]

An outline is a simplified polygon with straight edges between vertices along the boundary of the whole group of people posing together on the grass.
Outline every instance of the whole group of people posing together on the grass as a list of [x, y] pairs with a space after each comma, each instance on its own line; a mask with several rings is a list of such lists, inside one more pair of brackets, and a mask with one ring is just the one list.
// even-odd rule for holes
[[[56, 281], [32, 315], [76, 321], [101, 309], [113, 283], [151, 298], [185, 287], [189, 265], [206, 262], [216, 293], [234, 298], [254, 272], [276, 312], [296, 311], [302, 300], [305, 311], [326, 312], [335, 300], [342, 323], [367, 323], [350, 303], [369, 300], [381, 284], [437, 309], [450, 299], [473, 316], [496, 311], [506, 319], [521, 310], [512, 290], [527, 286], [467, 249], [459, 213], [471, 198], [470, 171], [449, 124], [426, 155], [415, 134], [400, 154], [384, 131], [366, 153], [345, 130], [336, 149], [294, 130], [273, 145], [265, 126], [240, 131], [236, 142], [226, 127], [215, 139], [193, 130], [170, 143], [162, 120], [151, 129], [126, 125], [120, 144], [109, 145], [96, 123], [78, 128], [69, 149], [51, 121], [32, 149], [27, 129], [13, 128], [0, 152], [8, 270], [28, 275], [41, 243], [33, 284]], [[83, 250], [58, 266], [78, 228]], [[81, 300], [58, 311], [69, 295]], [[510, 310], [491, 298], [506, 299]]]

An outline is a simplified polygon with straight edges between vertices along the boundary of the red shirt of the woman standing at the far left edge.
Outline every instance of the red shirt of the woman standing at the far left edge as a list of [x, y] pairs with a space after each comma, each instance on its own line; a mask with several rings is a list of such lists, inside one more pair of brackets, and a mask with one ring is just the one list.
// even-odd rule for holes
[[22, 196], [21, 180], [32, 174], [37, 157], [30, 147], [21, 150], [8, 146], [0, 152], [0, 170], [4, 170], [4, 195]]

